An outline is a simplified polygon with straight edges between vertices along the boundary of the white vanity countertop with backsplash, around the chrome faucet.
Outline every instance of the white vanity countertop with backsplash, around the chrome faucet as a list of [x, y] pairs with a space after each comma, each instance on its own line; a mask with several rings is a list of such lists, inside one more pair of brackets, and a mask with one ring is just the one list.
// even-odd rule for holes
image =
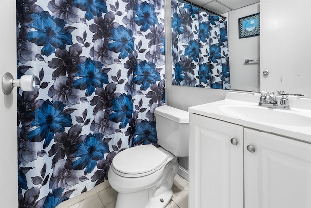
[[[271, 132], [278, 135], [291, 137], [297, 140], [311, 143], [311, 99], [297, 96], [289, 96], [289, 105], [291, 110], [272, 109], [266, 107], [257, 107], [259, 102], [259, 93], [244, 93], [244, 92], [226, 92], [226, 98], [217, 102], [207, 103], [198, 106], [189, 107], [190, 113], [215, 118], [218, 120], [238, 124], [252, 129], [257, 129], [264, 132]], [[280, 96], [276, 96], [279, 100]], [[222, 110], [223, 107], [228, 106], [246, 106], [250, 108], [264, 108], [260, 111], [266, 111], [269, 113], [269, 119], [263, 119], [260, 117], [260, 121], [256, 119], [256, 116], [251, 114], [239, 116], [237, 113], [228, 113]], [[245, 107], [245, 108], [246, 108]], [[286, 113], [286, 121], [281, 120], [281, 124], [277, 123], [276, 116], [273, 117], [273, 113], [281, 115], [280, 113]], [[302, 116], [305, 123], [299, 125], [299, 121], [295, 120]], [[274, 119], [275, 118], [275, 119]], [[310, 119], [309, 119], [310, 118]], [[310, 122], [310, 123], [309, 123]], [[300, 122], [301, 123], [301, 122]], [[285, 125], [284, 125], [285, 124]], [[293, 125], [292, 125], [293, 124]], [[297, 125], [298, 124], [298, 125]]]

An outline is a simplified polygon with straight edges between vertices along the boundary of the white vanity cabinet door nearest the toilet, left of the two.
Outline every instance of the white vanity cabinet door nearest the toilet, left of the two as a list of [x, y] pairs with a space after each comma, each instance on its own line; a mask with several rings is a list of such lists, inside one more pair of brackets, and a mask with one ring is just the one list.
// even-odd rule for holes
[[190, 113], [189, 186], [189, 208], [243, 208], [242, 126]]

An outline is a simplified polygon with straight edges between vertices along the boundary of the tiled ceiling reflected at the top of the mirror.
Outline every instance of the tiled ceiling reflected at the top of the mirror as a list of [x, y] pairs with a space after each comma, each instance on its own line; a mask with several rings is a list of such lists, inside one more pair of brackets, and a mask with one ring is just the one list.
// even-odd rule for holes
[[259, 2], [260, 0], [187, 0], [203, 6], [215, 13], [222, 14]]

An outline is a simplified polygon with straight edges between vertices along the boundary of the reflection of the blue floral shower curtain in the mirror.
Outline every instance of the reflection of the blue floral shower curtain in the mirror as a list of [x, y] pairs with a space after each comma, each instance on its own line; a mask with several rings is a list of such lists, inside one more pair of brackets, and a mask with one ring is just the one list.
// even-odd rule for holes
[[230, 89], [227, 21], [171, 1], [172, 84]]

